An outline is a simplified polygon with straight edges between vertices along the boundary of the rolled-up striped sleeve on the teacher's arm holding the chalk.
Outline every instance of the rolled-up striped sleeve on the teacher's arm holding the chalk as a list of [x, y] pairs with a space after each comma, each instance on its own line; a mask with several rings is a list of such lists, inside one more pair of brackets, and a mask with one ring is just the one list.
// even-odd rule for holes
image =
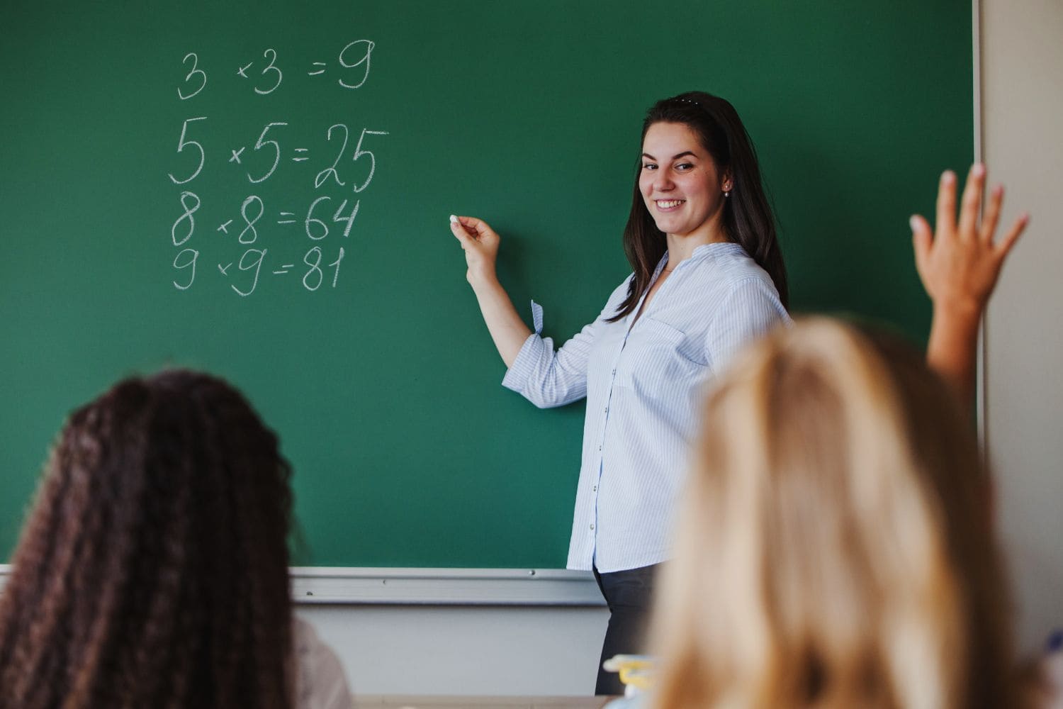
[[587, 362], [601, 318], [555, 351], [553, 338], [541, 336], [542, 307], [535, 301], [532, 302], [532, 316], [535, 332], [524, 341], [502, 386], [539, 408], [563, 406], [583, 399], [587, 395]]

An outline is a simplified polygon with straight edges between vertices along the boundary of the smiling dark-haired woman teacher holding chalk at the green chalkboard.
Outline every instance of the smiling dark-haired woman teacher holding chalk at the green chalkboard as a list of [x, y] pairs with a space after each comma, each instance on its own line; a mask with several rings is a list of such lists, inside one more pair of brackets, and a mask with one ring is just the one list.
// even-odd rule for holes
[[[733, 106], [702, 91], [657, 102], [624, 251], [635, 272], [559, 350], [524, 324], [495, 273], [499, 235], [452, 217], [467, 277], [508, 371], [539, 407], [587, 398], [569, 569], [593, 570], [609, 606], [602, 659], [638, 652], [703, 385], [746, 340], [789, 320], [787, 277], [756, 153]], [[622, 694], [598, 665], [597, 694]]]

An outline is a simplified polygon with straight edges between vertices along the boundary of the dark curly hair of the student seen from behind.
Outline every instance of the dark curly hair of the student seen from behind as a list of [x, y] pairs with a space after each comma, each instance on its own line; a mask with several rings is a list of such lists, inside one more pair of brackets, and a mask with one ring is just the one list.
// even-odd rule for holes
[[290, 474], [207, 374], [75, 410], [0, 596], [0, 707], [290, 707]]

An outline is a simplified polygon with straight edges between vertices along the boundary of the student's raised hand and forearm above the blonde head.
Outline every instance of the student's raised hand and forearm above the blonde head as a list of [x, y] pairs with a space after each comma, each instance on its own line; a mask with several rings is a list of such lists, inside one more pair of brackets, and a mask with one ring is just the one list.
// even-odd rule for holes
[[927, 342], [927, 364], [947, 381], [964, 406], [974, 401], [978, 327], [996, 286], [1005, 258], [1029, 222], [1022, 215], [999, 241], [994, 239], [1003, 187], [990, 192], [979, 220], [985, 166], [971, 168], [956, 221], [956, 174], [946, 171], [938, 187], [938, 224], [931, 233], [923, 217], [912, 217], [915, 269], [933, 302], [933, 322]]

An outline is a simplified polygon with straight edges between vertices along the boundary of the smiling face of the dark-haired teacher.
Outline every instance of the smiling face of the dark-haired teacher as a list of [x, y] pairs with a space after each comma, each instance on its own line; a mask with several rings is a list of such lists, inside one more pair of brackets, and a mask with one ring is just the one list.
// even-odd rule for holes
[[686, 123], [654, 123], [646, 131], [639, 191], [660, 231], [715, 240], [728, 183]]

